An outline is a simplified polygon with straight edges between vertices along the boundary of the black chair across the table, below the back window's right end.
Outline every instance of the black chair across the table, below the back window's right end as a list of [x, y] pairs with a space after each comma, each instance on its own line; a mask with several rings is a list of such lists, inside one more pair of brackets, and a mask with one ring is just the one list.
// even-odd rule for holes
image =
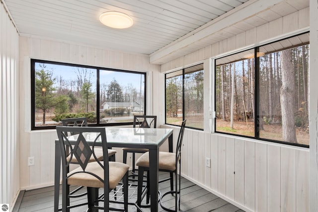
[[[146, 115], [135, 115], [134, 116], [134, 123], [133, 127], [136, 128], [138, 126], [139, 128], [156, 128], [157, 127], [157, 116], [146, 116]], [[133, 156], [133, 169], [131, 176], [133, 179], [135, 176], [137, 177], [138, 174], [136, 173], [135, 168], [135, 154], [136, 153], [145, 153], [149, 151], [149, 149], [145, 148], [123, 148], [123, 163], [127, 163], [127, 153], [132, 153]]]

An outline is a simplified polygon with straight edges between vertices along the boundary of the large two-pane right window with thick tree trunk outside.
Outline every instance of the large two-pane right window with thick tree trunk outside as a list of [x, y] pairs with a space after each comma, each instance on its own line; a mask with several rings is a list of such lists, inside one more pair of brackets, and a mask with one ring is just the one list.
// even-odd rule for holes
[[215, 60], [215, 130], [309, 146], [309, 33]]

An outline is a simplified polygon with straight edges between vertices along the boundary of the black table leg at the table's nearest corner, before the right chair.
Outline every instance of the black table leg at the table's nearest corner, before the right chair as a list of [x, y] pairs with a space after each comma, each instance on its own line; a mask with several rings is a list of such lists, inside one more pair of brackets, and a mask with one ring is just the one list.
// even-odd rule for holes
[[149, 175], [150, 175], [150, 199], [151, 211], [158, 212], [158, 182], [159, 182], [159, 147], [149, 149]]

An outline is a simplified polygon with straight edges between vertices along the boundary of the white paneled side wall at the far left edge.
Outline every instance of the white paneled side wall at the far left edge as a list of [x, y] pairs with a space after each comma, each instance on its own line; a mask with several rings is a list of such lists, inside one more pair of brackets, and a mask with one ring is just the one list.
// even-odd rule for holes
[[0, 3], [0, 203], [13, 207], [19, 192], [18, 33]]

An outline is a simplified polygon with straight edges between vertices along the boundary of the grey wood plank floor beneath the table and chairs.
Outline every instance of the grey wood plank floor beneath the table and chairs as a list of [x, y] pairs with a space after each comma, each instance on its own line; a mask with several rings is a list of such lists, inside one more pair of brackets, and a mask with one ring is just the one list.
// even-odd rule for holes
[[[160, 173], [159, 178], [166, 177], [166, 173]], [[120, 190], [120, 189], [118, 189]], [[159, 191], [164, 193], [169, 190], [169, 182], [159, 184]], [[102, 193], [102, 190], [100, 191]], [[60, 191], [61, 193], [61, 191]], [[129, 189], [129, 202], [136, 202], [136, 186], [131, 185]], [[110, 195], [114, 193], [111, 192]], [[117, 194], [120, 196], [120, 194]], [[21, 191], [20, 201], [17, 201], [13, 212], [53, 212], [54, 203], [54, 187], [46, 187], [41, 189]], [[164, 199], [165, 206], [173, 207], [174, 196], [167, 195]], [[86, 197], [71, 199], [72, 203], [85, 202]], [[20, 203], [19, 203], [20, 202]], [[61, 195], [60, 195], [61, 207]], [[143, 204], [146, 204], [145, 201]], [[71, 212], [85, 212], [86, 206], [71, 209]], [[137, 211], [133, 205], [129, 206], [129, 212]], [[149, 208], [144, 208], [144, 212], [150, 212]], [[159, 212], [163, 211], [159, 205]], [[205, 189], [195, 185], [194, 183], [181, 178], [181, 206], [180, 212], [243, 212], [238, 207], [231, 205], [225, 200], [211, 194]]]

